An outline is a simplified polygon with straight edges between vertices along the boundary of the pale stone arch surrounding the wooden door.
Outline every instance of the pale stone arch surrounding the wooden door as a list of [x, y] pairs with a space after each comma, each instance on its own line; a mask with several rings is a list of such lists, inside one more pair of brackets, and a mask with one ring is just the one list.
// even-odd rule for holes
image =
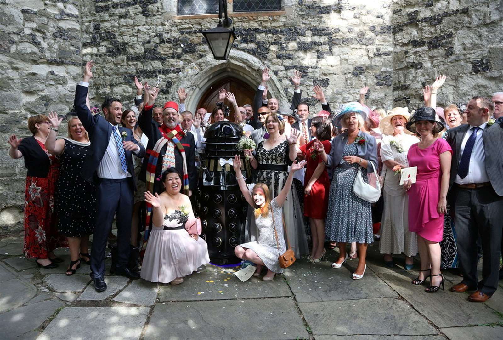
[[[214, 60], [211, 55], [198, 62], [200, 65], [206, 65], [199, 68], [197, 64], [191, 64], [185, 68], [185, 72], [180, 74], [180, 83], [173, 89], [184, 87], [189, 95], [186, 100], [186, 108], [191, 112], [197, 110], [197, 104], [206, 91], [217, 81], [225, 77], [236, 77], [247, 83], [251, 88], [257, 89], [262, 78], [263, 63], [257, 57], [239, 50], [232, 50], [229, 59], [226, 61]], [[174, 84], [175, 85], [175, 84]], [[281, 81], [271, 73], [271, 79], [268, 82], [269, 95], [278, 98], [282, 105], [288, 103]], [[288, 105], [289, 106], [289, 105]]]

